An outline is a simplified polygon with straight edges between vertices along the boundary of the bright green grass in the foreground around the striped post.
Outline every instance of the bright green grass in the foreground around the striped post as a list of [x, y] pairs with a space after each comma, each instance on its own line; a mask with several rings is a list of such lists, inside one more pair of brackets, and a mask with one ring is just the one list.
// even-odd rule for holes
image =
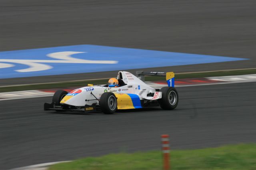
[[[256, 170], [256, 144], [172, 150], [171, 170]], [[50, 166], [49, 170], [162, 170], [160, 151], [108, 154]]]

